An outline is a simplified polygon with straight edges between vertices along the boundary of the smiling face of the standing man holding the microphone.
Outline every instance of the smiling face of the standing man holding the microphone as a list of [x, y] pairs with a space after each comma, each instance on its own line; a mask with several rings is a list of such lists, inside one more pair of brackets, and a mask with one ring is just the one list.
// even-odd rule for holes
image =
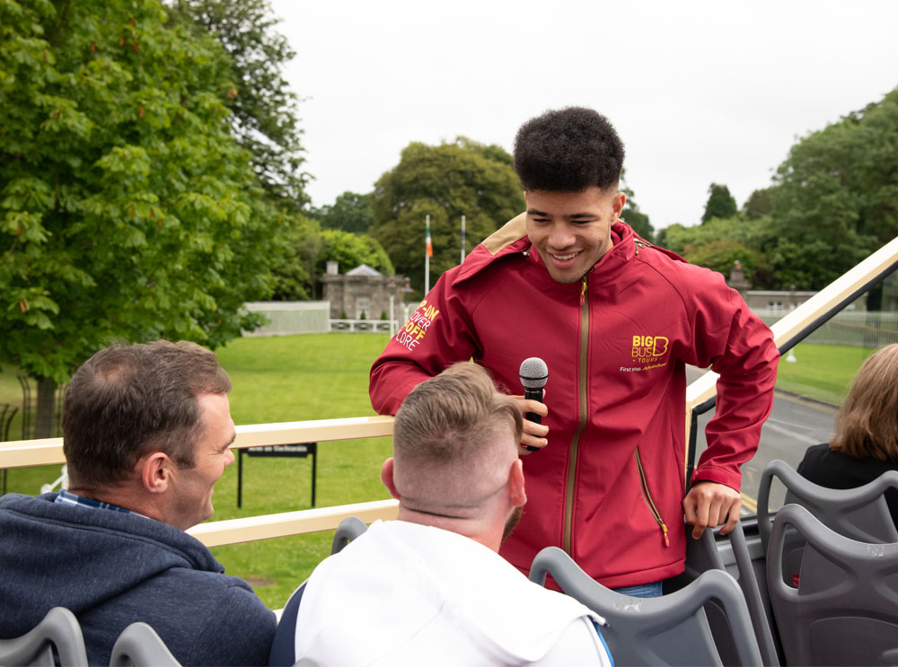
[[617, 188], [580, 192], [530, 190], [527, 236], [549, 275], [559, 283], [576, 283], [611, 250], [611, 228], [627, 197]]

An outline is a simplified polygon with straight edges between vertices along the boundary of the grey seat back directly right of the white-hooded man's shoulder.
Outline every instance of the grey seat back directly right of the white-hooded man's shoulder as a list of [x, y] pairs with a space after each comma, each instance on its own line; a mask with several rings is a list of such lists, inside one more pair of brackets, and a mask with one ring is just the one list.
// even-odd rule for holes
[[533, 559], [530, 579], [544, 584], [547, 574], [562, 591], [608, 621], [602, 634], [615, 664], [721, 664], [702, 609], [712, 599], [726, 613], [740, 662], [762, 663], [742, 591], [722, 570], [709, 570], [660, 598], [633, 598], [595, 582], [564, 551], [547, 547]]

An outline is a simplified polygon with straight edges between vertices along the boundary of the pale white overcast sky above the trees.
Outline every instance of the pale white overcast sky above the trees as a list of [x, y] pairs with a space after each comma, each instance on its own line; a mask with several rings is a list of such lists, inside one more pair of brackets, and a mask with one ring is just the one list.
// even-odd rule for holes
[[272, 5], [314, 206], [371, 191], [411, 141], [510, 152], [527, 118], [584, 105], [617, 127], [653, 226], [696, 224], [711, 182], [742, 206], [797, 137], [898, 86], [894, 0]]

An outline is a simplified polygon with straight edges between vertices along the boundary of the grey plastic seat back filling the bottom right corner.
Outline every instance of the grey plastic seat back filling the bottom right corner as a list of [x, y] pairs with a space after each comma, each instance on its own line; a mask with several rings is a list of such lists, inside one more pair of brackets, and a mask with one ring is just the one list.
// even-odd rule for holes
[[[783, 580], [788, 529], [806, 541], [797, 587]], [[770, 534], [770, 603], [788, 664], [894, 664], [898, 543], [843, 537], [804, 507], [786, 505]]]

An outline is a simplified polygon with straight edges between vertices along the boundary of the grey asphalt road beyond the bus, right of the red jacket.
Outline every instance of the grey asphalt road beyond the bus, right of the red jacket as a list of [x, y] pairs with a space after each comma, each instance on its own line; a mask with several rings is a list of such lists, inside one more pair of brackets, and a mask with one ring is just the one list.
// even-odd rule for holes
[[[688, 382], [697, 379], [703, 370], [688, 367]], [[825, 443], [832, 435], [833, 419], [836, 406], [802, 399], [797, 396], [777, 391], [773, 401], [773, 410], [762, 427], [761, 443], [758, 452], [742, 469], [743, 513], [757, 512], [758, 485], [761, 473], [769, 461], [780, 459], [793, 468], [797, 467], [805, 455], [805, 450], [812, 444]], [[696, 461], [706, 447], [705, 426], [713, 416], [713, 410], [699, 417]], [[778, 509], [783, 503], [784, 488], [774, 480], [770, 490], [770, 509]]]

